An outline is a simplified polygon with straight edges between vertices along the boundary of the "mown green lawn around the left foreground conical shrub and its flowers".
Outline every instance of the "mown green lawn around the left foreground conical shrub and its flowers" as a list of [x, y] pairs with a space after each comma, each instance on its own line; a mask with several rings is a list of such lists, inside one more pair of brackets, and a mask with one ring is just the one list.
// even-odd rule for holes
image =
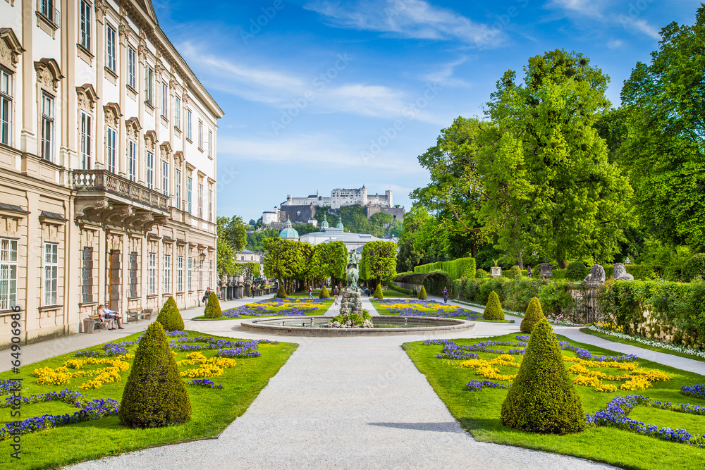
[[[189, 332], [190, 336], [202, 333]], [[137, 334], [130, 335], [125, 340], [134, 340]], [[214, 338], [221, 338], [215, 337]], [[226, 338], [232, 340], [233, 338]], [[298, 345], [282, 342], [279, 345], [259, 345], [261, 357], [235, 359], [235, 368], [225, 369], [222, 376], [210, 377], [216, 384], [225, 387], [224, 390], [193, 387], [187, 385], [191, 400], [192, 416], [183, 426], [153, 429], [130, 429], [121, 426], [116, 416], [97, 419], [85, 423], [61, 426], [59, 428], [40, 431], [22, 436], [21, 459], [11, 459], [8, 441], [1, 442], [5, 447], [0, 452], [0, 468], [4, 469], [49, 469], [98, 459], [105, 455], [121, 454], [154, 445], [178, 443], [185, 440], [207, 438], [219, 435], [235, 418], [241, 416], [259, 392], [269, 383], [278, 370], [288, 360]], [[130, 347], [130, 353], [135, 352], [136, 345]], [[99, 349], [94, 347], [91, 349]], [[179, 352], [176, 360], [185, 359], [186, 352]], [[206, 357], [212, 357], [216, 351], [203, 351]], [[68, 388], [78, 390], [81, 383], [88, 378], [73, 378], [70, 385], [37, 385], [35, 378], [30, 376], [34, 369], [49, 366], [56, 369], [67, 359], [75, 359], [73, 353], [39, 361], [20, 368], [19, 374], [0, 373], [0, 378], [23, 378], [23, 396], [38, 393], [59, 391]], [[130, 360], [130, 365], [132, 360]], [[85, 366], [86, 369], [98, 366]], [[195, 366], [182, 366], [180, 370]], [[121, 401], [123, 388], [130, 371], [121, 373], [122, 381], [106, 383], [99, 390], [78, 390], [92, 400], [94, 398], [113, 398]], [[191, 381], [193, 379], [184, 379]], [[5, 396], [1, 397], [2, 400]], [[77, 408], [61, 402], [46, 402], [27, 404], [20, 409], [20, 419], [42, 414], [65, 414], [78, 411]], [[16, 418], [13, 418], [13, 420]], [[9, 409], [0, 409], [0, 424], [4, 426], [10, 420]]]

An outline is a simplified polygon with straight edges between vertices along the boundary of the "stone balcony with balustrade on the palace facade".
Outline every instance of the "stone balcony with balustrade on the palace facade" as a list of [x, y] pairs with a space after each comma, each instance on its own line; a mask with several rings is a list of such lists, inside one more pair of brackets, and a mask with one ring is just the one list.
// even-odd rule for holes
[[168, 197], [107, 170], [74, 170], [75, 217], [147, 233], [171, 215]]

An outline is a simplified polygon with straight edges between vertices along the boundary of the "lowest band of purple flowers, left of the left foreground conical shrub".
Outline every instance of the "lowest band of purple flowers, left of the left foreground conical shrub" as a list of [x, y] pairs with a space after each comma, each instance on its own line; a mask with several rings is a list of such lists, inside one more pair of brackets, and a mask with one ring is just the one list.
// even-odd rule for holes
[[120, 410], [120, 403], [111, 398], [106, 400], [97, 398], [86, 404], [76, 402], [76, 405], [80, 409], [74, 414], [44, 414], [44, 416], [34, 416], [24, 421], [8, 423], [0, 428], [0, 440], [12, 438], [13, 435], [34, 433], [43, 429], [82, 423], [83, 421], [101, 419], [106, 416], [117, 416]]

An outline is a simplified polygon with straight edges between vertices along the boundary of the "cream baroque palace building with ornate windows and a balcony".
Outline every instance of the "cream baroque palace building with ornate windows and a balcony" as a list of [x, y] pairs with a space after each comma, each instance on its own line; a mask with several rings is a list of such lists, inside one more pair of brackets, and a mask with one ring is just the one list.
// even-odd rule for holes
[[214, 287], [222, 116], [151, 1], [0, 0], [0, 347]]

